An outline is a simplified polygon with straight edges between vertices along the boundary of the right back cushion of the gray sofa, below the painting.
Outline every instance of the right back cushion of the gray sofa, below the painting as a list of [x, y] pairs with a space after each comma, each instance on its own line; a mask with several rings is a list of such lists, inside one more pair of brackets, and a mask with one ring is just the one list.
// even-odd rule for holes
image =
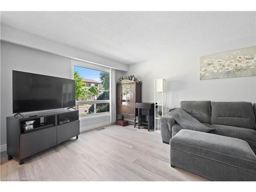
[[255, 129], [255, 116], [250, 102], [211, 102], [211, 124]]

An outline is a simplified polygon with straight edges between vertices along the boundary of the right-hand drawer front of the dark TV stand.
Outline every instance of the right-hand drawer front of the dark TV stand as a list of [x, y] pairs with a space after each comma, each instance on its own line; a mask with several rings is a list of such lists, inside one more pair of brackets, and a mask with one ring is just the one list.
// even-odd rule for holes
[[79, 135], [79, 120], [57, 126], [57, 142], [61, 143]]

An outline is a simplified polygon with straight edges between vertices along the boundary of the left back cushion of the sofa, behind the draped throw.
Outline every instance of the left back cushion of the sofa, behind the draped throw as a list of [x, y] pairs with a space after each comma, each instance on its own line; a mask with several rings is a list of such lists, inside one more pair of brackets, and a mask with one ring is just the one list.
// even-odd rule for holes
[[210, 101], [181, 101], [180, 108], [201, 123], [210, 124]]

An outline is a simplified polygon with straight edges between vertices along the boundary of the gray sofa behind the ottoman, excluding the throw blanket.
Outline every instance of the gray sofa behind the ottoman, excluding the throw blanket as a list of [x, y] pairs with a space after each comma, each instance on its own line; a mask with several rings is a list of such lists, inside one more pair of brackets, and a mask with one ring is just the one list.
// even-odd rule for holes
[[[246, 141], [256, 154], [256, 103], [181, 101], [180, 108], [210, 128], [213, 134]], [[166, 114], [160, 119], [164, 143], [183, 129], [175, 119]]]

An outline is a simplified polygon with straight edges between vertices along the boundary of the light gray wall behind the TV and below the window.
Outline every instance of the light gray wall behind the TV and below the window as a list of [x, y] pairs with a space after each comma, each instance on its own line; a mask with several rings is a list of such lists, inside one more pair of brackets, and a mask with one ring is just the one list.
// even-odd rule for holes
[[[6, 149], [6, 117], [13, 115], [12, 70], [70, 78], [71, 58], [1, 40], [1, 151]], [[115, 108], [115, 102], [112, 104]], [[80, 131], [104, 126], [109, 122], [109, 115], [80, 119]]]

